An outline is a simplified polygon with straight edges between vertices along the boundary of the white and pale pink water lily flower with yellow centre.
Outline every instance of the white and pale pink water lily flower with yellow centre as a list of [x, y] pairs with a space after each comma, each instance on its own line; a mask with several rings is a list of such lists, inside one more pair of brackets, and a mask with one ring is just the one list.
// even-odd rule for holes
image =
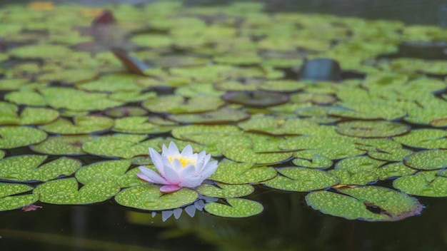
[[149, 183], [161, 184], [160, 191], [171, 193], [180, 188], [196, 188], [211, 176], [217, 169], [217, 161], [209, 161], [211, 154], [193, 153], [191, 145], [186, 145], [184, 150], [174, 142], [169, 147], [163, 145], [161, 155], [149, 148], [149, 155], [159, 173], [154, 170], [140, 166], [141, 173], [136, 175]]

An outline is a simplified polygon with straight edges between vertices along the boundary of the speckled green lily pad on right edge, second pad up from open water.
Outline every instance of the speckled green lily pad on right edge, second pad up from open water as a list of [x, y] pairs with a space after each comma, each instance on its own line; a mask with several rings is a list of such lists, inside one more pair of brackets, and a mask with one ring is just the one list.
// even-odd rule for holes
[[435, 170], [447, 167], [447, 150], [423, 150], [406, 156], [403, 163], [419, 170]]

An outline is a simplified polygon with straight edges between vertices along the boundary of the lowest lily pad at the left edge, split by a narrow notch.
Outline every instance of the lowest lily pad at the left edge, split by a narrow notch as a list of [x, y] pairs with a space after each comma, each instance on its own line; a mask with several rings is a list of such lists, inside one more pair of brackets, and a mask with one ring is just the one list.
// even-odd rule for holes
[[29, 185], [0, 183], [0, 211], [14, 210], [35, 203], [39, 200], [39, 195], [16, 195], [31, 190], [33, 188]]

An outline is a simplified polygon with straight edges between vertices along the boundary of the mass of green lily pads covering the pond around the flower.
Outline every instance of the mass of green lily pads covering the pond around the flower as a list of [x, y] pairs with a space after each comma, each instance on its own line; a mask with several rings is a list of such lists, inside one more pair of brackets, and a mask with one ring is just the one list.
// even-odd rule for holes
[[[446, 197], [447, 61], [399, 51], [447, 30], [262, 9], [1, 9], [0, 210], [115, 200], [163, 220], [248, 217], [263, 187], [393, 221], [421, 212], [413, 195]], [[171, 141], [216, 173], [169, 194], [139, 179]]]

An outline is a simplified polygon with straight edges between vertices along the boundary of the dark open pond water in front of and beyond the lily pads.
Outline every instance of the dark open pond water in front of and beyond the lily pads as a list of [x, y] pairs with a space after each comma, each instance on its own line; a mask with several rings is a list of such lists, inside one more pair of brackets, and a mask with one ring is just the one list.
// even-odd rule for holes
[[[18, 1], [1, 1], [0, 4]], [[26, 1], [21, 1], [26, 2]], [[59, 2], [59, 1], [56, 1]], [[66, 1], [64, 1], [66, 2]], [[92, 4], [92, 1], [78, 1]], [[123, 1], [94, 1], [94, 4]], [[141, 4], [141, 0], [129, 0]], [[188, 5], [228, 1], [187, 1]], [[263, 1], [271, 11], [327, 13], [407, 24], [447, 26], [445, 0]], [[274, 193], [274, 195], [272, 194]], [[447, 198], [418, 198], [421, 215], [399, 222], [363, 222], [323, 215], [304, 202], [306, 193], [265, 188], [248, 196], [260, 215], [243, 219], [198, 212], [161, 222], [161, 216], [99, 205], [43, 205], [0, 213], [0, 250], [447, 250]]]

